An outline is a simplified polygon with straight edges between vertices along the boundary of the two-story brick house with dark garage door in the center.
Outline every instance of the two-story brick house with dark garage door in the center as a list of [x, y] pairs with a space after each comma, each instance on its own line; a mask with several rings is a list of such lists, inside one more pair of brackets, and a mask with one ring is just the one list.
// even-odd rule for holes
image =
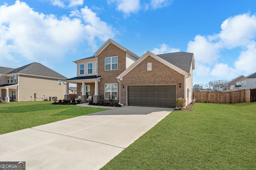
[[86, 102], [99, 95], [108, 101], [113, 96], [120, 105], [176, 107], [176, 99], [192, 101], [193, 53], [177, 52], [155, 55], [147, 51], [139, 57], [113, 40], [108, 40], [94, 56], [73, 61], [77, 77], [65, 80], [77, 84], [77, 97]]

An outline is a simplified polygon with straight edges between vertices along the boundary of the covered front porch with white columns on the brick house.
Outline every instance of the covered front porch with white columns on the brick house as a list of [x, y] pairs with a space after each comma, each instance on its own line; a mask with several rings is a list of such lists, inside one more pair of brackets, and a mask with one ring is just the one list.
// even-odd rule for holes
[[76, 99], [80, 99], [81, 103], [86, 103], [89, 96], [92, 96], [94, 103], [98, 102], [98, 82], [101, 76], [82, 76], [66, 79], [66, 93], [64, 99], [70, 100], [69, 85], [70, 83], [76, 84], [77, 94]]

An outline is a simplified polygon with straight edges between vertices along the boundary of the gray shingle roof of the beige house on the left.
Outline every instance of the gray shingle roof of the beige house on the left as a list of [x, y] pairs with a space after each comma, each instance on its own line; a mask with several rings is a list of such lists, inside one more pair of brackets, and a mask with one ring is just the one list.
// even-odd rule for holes
[[53, 71], [52, 69], [49, 69], [48, 67], [36, 62], [28, 65], [24, 65], [17, 69], [6, 68], [3, 70], [8, 70], [8, 69], [10, 70], [10, 72], [5, 74], [20, 73], [20, 74], [27, 74], [27, 75], [43, 76], [43, 77], [52, 77], [52, 78], [58, 78], [58, 79], [67, 79], [67, 77], [64, 77], [63, 75], [57, 73], [56, 71]]

